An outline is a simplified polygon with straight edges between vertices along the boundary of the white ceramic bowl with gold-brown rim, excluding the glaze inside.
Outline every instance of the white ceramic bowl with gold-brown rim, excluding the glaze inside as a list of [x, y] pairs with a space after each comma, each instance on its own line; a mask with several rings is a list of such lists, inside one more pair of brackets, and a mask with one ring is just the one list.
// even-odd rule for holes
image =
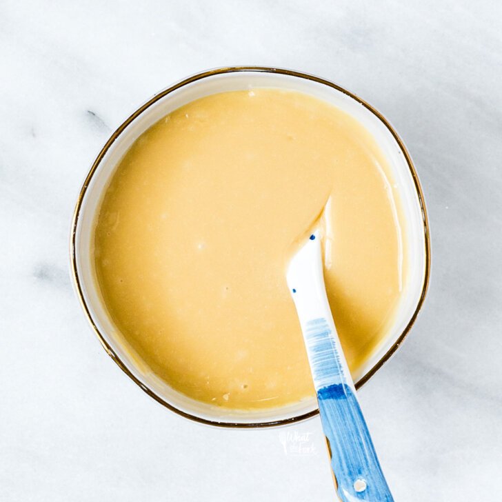
[[83, 183], [72, 222], [70, 259], [74, 286], [83, 310], [106, 352], [135, 383], [174, 412], [199, 422], [228, 427], [263, 427], [306, 419], [319, 412], [317, 401], [312, 397], [277, 409], [230, 412], [190, 399], [161, 381], [128, 350], [101, 303], [92, 267], [92, 225], [114, 169], [140, 134], [166, 114], [194, 99], [217, 92], [255, 87], [297, 90], [328, 101], [351, 114], [373, 134], [388, 159], [394, 181], [399, 184], [402, 211], [407, 221], [408, 286], [388, 336], [353, 375], [357, 388], [381, 368], [410, 331], [425, 297], [430, 270], [425, 203], [410, 155], [382, 114], [348, 90], [319, 77], [291, 70], [237, 67], [199, 73], [152, 97], [112, 134]]

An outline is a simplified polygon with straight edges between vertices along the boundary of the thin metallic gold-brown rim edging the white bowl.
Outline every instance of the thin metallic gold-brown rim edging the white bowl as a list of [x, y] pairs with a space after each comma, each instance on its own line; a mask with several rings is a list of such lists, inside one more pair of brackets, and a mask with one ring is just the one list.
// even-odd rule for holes
[[356, 383], [356, 388], [359, 389], [361, 388], [362, 385], [364, 385], [375, 373], [377, 370], [379, 370], [382, 365], [390, 359], [392, 354], [396, 352], [396, 350], [399, 348], [401, 343], [403, 343], [404, 339], [407, 337], [408, 333], [410, 332], [412, 325], [414, 324], [416, 317], [419, 314], [419, 311], [421, 310], [421, 307], [423, 305], [423, 301], [425, 300], [425, 294], [427, 293], [428, 290], [428, 285], [429, 285], [429, 279], [430, 279], [430, 235], [429, 235], [429, 223], [428, 223], [428, 217], [427, 217], [427, 210], [425, 208], [425, 200], [423, 198], [423, 192], [422, 188], [419, 182], [419, 177], [418, 174], [416, 174], [416, 170], [414, 168], [412, 159], [410, 157], [410, 154], [408, 153], [408, 150], [406, 149], [403, 141], [399, 137], [399, 135], [396, 133], [394, 128], [392, 128], [392, 125], [388, 122], [385, 117], [378, 111], [375, 110], [369, 103], [366, 103], [363, 101], [363, 99], [357, 97], [355, 94], [352, 92], [342, 88], [341, 86], [338, 86], [336, 83], [330, 82], [325, 79], [321, 79], [320, 77], [315, 77], [314, 75], [302, 73], [302, 72], [297, 72], [294, 70], [285, 70], [283, 68], [270, 68], [266, 66], [232, 66], [232, 67], [226, 67], [226, 68], [215, 68], [214, 70], [208, 70], [206, 72], [201, 72], [198, 74], [193, 75], [192, 77], [188, 77], [187, 79], [184, 79], [183, 81], [180, 81], [178, 83], [175, 83], [174, 86], [171, 86], [168, 89], [165, 89], [159, 94], [155, 94], [154, 97], [152, 97], [149, 101], [147, 101], [143, 106], [138, 108], [128, 119], [126, 119], [120, 126], [115, 130], [115, 132], [110, 136], [110, 139], [106, 142], [106, 144], [103, 146], [101, 152], [99, 152], [99, 155], [97, 156], [96, 160], [92, 164], [92, 167], [90, 168], [90, 171], [86, 177], [86, 180], [83, 183], [83, 186], [81, 188], [81, 191], [79, 193], [79, 198], [77, 200], [77, 205], [75, 206], [75, 210], [73, 213], [73, 219], [72, 219], [72, 231], [71, 231], [71, 236], [70, 236], [70, 261], [71, 261], [71, 269], [72, 269], [72, 278], [74, 281], [74, 286], [75, 290], [77, 291], [77, 296], [79, 297], [79, 301], [82, 305], [82, 308], [84, 312], [86, 313], [86, 317], [88, 321], [90, 322], [90, 325], [92, 326], [92, 329], [94, 332], [97, 334], [97, 337], [99, 341], [101, 342], [101, 345], [103, 345], [103, 348], [106, 350], [108, 355], [119, 365], [119, 368], [125, 374], [127, 374], [134, 383], [139, 385], [141, 389], [143, 389], [149, 396], [151, 396], [155, 401], [158, 401], [161, 403], [161, 405], [164, 405], [166, 408], [169, 410], [172, 410], [173, 412], [184, 416], [187, 419], [191, 419], [194, 421], [197, 421], [199, 423], [205, 423], [207, 425], [218, 425], [220, 427], [229, 427], [229, 428], [259, 428], [259, 427], [273, 427], [277, 425], [285, 425], [288, 423], [294, 423], [298, 422], [301, 420], [305, 420], [310, 418], [311, 416], [315, 416], [319, 414], [319, 410], [312, 410], [311, 412], [308, 413], [303, 413], [298, 416], [293, 416], [288, 419], [281, 419], [281, 420], [276, 420], [276, 421], [271, 421], [271, 422], [256, 422], [256, 423], [232, 423], [232, 422], [219, 422], [217, 420], [210, 420], [210, 419], [202, 419], [199, 416], [192, 415], [187, 412], [183, 412], [182, 410], [179, 410], [176, 408], [174, 405], [166, 402], [164, 399], [161, 398], [158, 394], [153, 392], [150, 388], [148, 388], [143, 382], [139, 381], [132, 372], [125, 366], [123, 361], [117, 356], [117, 354], [114, 352], [108, 341], [103, 337], [103, 334], [99, 331], [97, 328], [96, 323], [94, 323], [94, 320], [92, 319], [92, 316], [90, 314], [90, 310], [88, 308], [88, 305], [86, 303], [86, 299], [83, 297], [83, 292], [81, 288], [81, 283], [79, 279], [79, 272], [77, 270], [77, 259], [76, 259], [76, 253], [75, 253], [75, 244], [76, 244], [76, 237], [77, 237], [77, 224], [79, 221], [79, 214], [82, 206], [82, 201], [83, 198], [86, 195], [86, 191], [88, 188], [88, 185], [90, 184], [90, 181], [92, 179], [92, 176], [94, 175], [94, 172], [97, 171], [99, 164], [101, 163], [101, 160], [105, 156], [106, 152], [112, 145], [112, 143], [119, 137], [119, 135], [125, 130], [125, 128], [132, 122], [134, 119], [136, 119], [140, 114], [145, 112], [150, 106], [152, 106], [153, 103], [157, 102], [159, 99], [162, 99], [163, 97], [167, 96], [174, 90], [177, 90], [183, 86], [186, 86], [189, 83], [205, 79], [207, 77], [212, 77], [214, 75], [218, 74], [223, 74], [223, 73], [234, 73], [234, 72], [266, 72], [266, 73], [275, 73], [275, 74], [283, 74], [283, 75], [289, 75], [290, 77], [299, 77], [301, 79], [306, 79], [310, 81], [314, 81], [317, 83], [321, 83], [325, 86], [328, 86], [330, 88], [334, 88], [340, 92], [343, 92], [343, 94], [347, 94], [349, 97], [352, 99], [355, 99], [359, 103], [361, 103], [362, 106], [370, 110], [376, 117], [378, 117], [383, 124], [385, 125], [386, 128], [390, 131], [394, 139], [399, 145], [399, 148], [403, 151], [403, 154], [406, 159], [406, 163], [408, 164], [408, 168], [410, 169], [410, 174], [412, 175], [412, 179], [414, 182], [414, 186], [416, 189], [416, 196], [419, 199], [419, 204], [422, 212], [422, 220], [423, 220], [423, 236], [424, 236], [424, 242], [425, 242], [425, 272], [423, 275], [423, 283], [422, 283], [422, 289], [421, 289], [421, 295], [419, 298], [418, 303], [416, 304], [416, 308], [412, 314], [412, 317], [410, 318], [410, 321], [408, 321], [408, 324], [405, 326], [403, 332], [399, 335], [399, 337], [396, 339], [396, 341], [392, 344], [392, 347], [383, 354], [383, 357], [379, 359], [379, 361], [368, 371], [366, 374], [359, 379]]

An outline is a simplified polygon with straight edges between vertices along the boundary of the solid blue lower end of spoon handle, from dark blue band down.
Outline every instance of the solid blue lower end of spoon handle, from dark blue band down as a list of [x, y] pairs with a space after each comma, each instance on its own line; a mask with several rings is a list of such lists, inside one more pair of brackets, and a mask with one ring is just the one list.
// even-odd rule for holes
[[[328, 385], [318, 390], [317, 399], [341, 501], [393, 502], [368, 426], [350, 385]], [[360, 485], [365, 484], [361, 492], [354, 487], [358, 480]]]

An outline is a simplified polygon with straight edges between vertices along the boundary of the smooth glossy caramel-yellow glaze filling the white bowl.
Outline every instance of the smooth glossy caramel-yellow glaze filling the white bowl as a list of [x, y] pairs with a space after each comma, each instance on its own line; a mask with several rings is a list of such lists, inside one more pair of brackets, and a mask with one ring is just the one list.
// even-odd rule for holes
[[194, 399], [250, 409], [312, 395], [288, 257], [325, 208], [325, 281], [354, 370], [406, 275], [388, 172], [357, 121], [305, 94], [225, 92], [172, 112], [101, 202], [94, 261], [117, 330]]

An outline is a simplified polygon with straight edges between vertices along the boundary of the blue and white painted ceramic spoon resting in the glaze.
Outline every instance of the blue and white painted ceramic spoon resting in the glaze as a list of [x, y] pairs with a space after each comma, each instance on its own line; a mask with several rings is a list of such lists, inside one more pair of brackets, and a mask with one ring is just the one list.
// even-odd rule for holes
[[393, 502], [343, 356], [326, 296], [319, 232], [292, 258], [288, 286], [297, 308], [343, 502]]

